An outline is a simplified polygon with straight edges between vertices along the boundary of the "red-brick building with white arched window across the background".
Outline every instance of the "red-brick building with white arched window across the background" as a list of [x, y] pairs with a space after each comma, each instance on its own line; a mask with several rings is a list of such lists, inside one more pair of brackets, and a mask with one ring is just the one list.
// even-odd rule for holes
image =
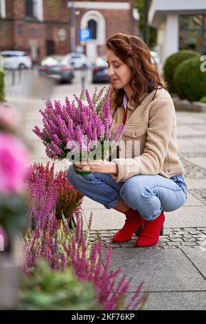
[[[76, 46], [93, 61], [105, 52], [115, 32], [138, 34], [134, 0], [74, 1]], [[0, 50], [25, 50], [34, 62], [47, 54], [71, 52], [71, 1], [1, 0]], [[80, 42], [80, 28], [91, 28], [93, 39]]]

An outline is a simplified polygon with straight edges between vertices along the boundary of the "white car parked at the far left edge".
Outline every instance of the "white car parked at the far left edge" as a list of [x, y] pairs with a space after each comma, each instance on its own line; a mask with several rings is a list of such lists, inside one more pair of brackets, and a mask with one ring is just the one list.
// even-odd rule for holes
[[32, 68], [32, 60], [25, 52], [5, 50], [0, 52], [0, 56], [3, 57], [3, 65], [5, 69], [17, 70]]

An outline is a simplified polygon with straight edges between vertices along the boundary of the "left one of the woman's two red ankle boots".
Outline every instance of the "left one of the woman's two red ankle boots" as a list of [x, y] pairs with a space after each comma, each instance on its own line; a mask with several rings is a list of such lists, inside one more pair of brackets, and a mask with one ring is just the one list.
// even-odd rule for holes
[[127, 210], [124, 212], [126, 215], [126, 220], [124, 226], [119, 230], [113, 237], [113, 242], [125, 242], [132, 239], [133, 234], [138, 230], [138, 228], [144, 225], [144, 219], [140, 216], [137, 210]]

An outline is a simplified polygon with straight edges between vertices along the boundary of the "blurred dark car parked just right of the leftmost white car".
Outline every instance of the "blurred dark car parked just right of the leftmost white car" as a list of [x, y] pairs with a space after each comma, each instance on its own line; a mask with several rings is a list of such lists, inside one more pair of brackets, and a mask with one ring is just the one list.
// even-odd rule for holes
[[67, 55], [51, 55], [44, 57], [38, 68], [38, 73], [71, 83], [73, 79], [73, 68], [69, 64]]

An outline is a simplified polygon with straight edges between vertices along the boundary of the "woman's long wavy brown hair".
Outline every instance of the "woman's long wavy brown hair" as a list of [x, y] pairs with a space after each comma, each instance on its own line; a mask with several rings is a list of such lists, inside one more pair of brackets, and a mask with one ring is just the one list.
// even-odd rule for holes
[[[141, 99], [148, 92], [156, 90], [156, 94], [159, 86], [167, 90], [165, 83], [159, 76], [157, 66], [152, 65], [150, 50], [141, 38], [118, 32], [108, 39], [106, 48], [113, 50], [115, 55], [130, 67], [132, 77], [129, 85], [134, 90], [133, 96], [130, 99], [133, 99], [135, 105], [139, 105]], [[111, 101], [117, 107], [122, 105], [124, 93], [124, 89], [115, 89], [112, 84]], [[155, 98], [155, 95], [153, 98]]]

